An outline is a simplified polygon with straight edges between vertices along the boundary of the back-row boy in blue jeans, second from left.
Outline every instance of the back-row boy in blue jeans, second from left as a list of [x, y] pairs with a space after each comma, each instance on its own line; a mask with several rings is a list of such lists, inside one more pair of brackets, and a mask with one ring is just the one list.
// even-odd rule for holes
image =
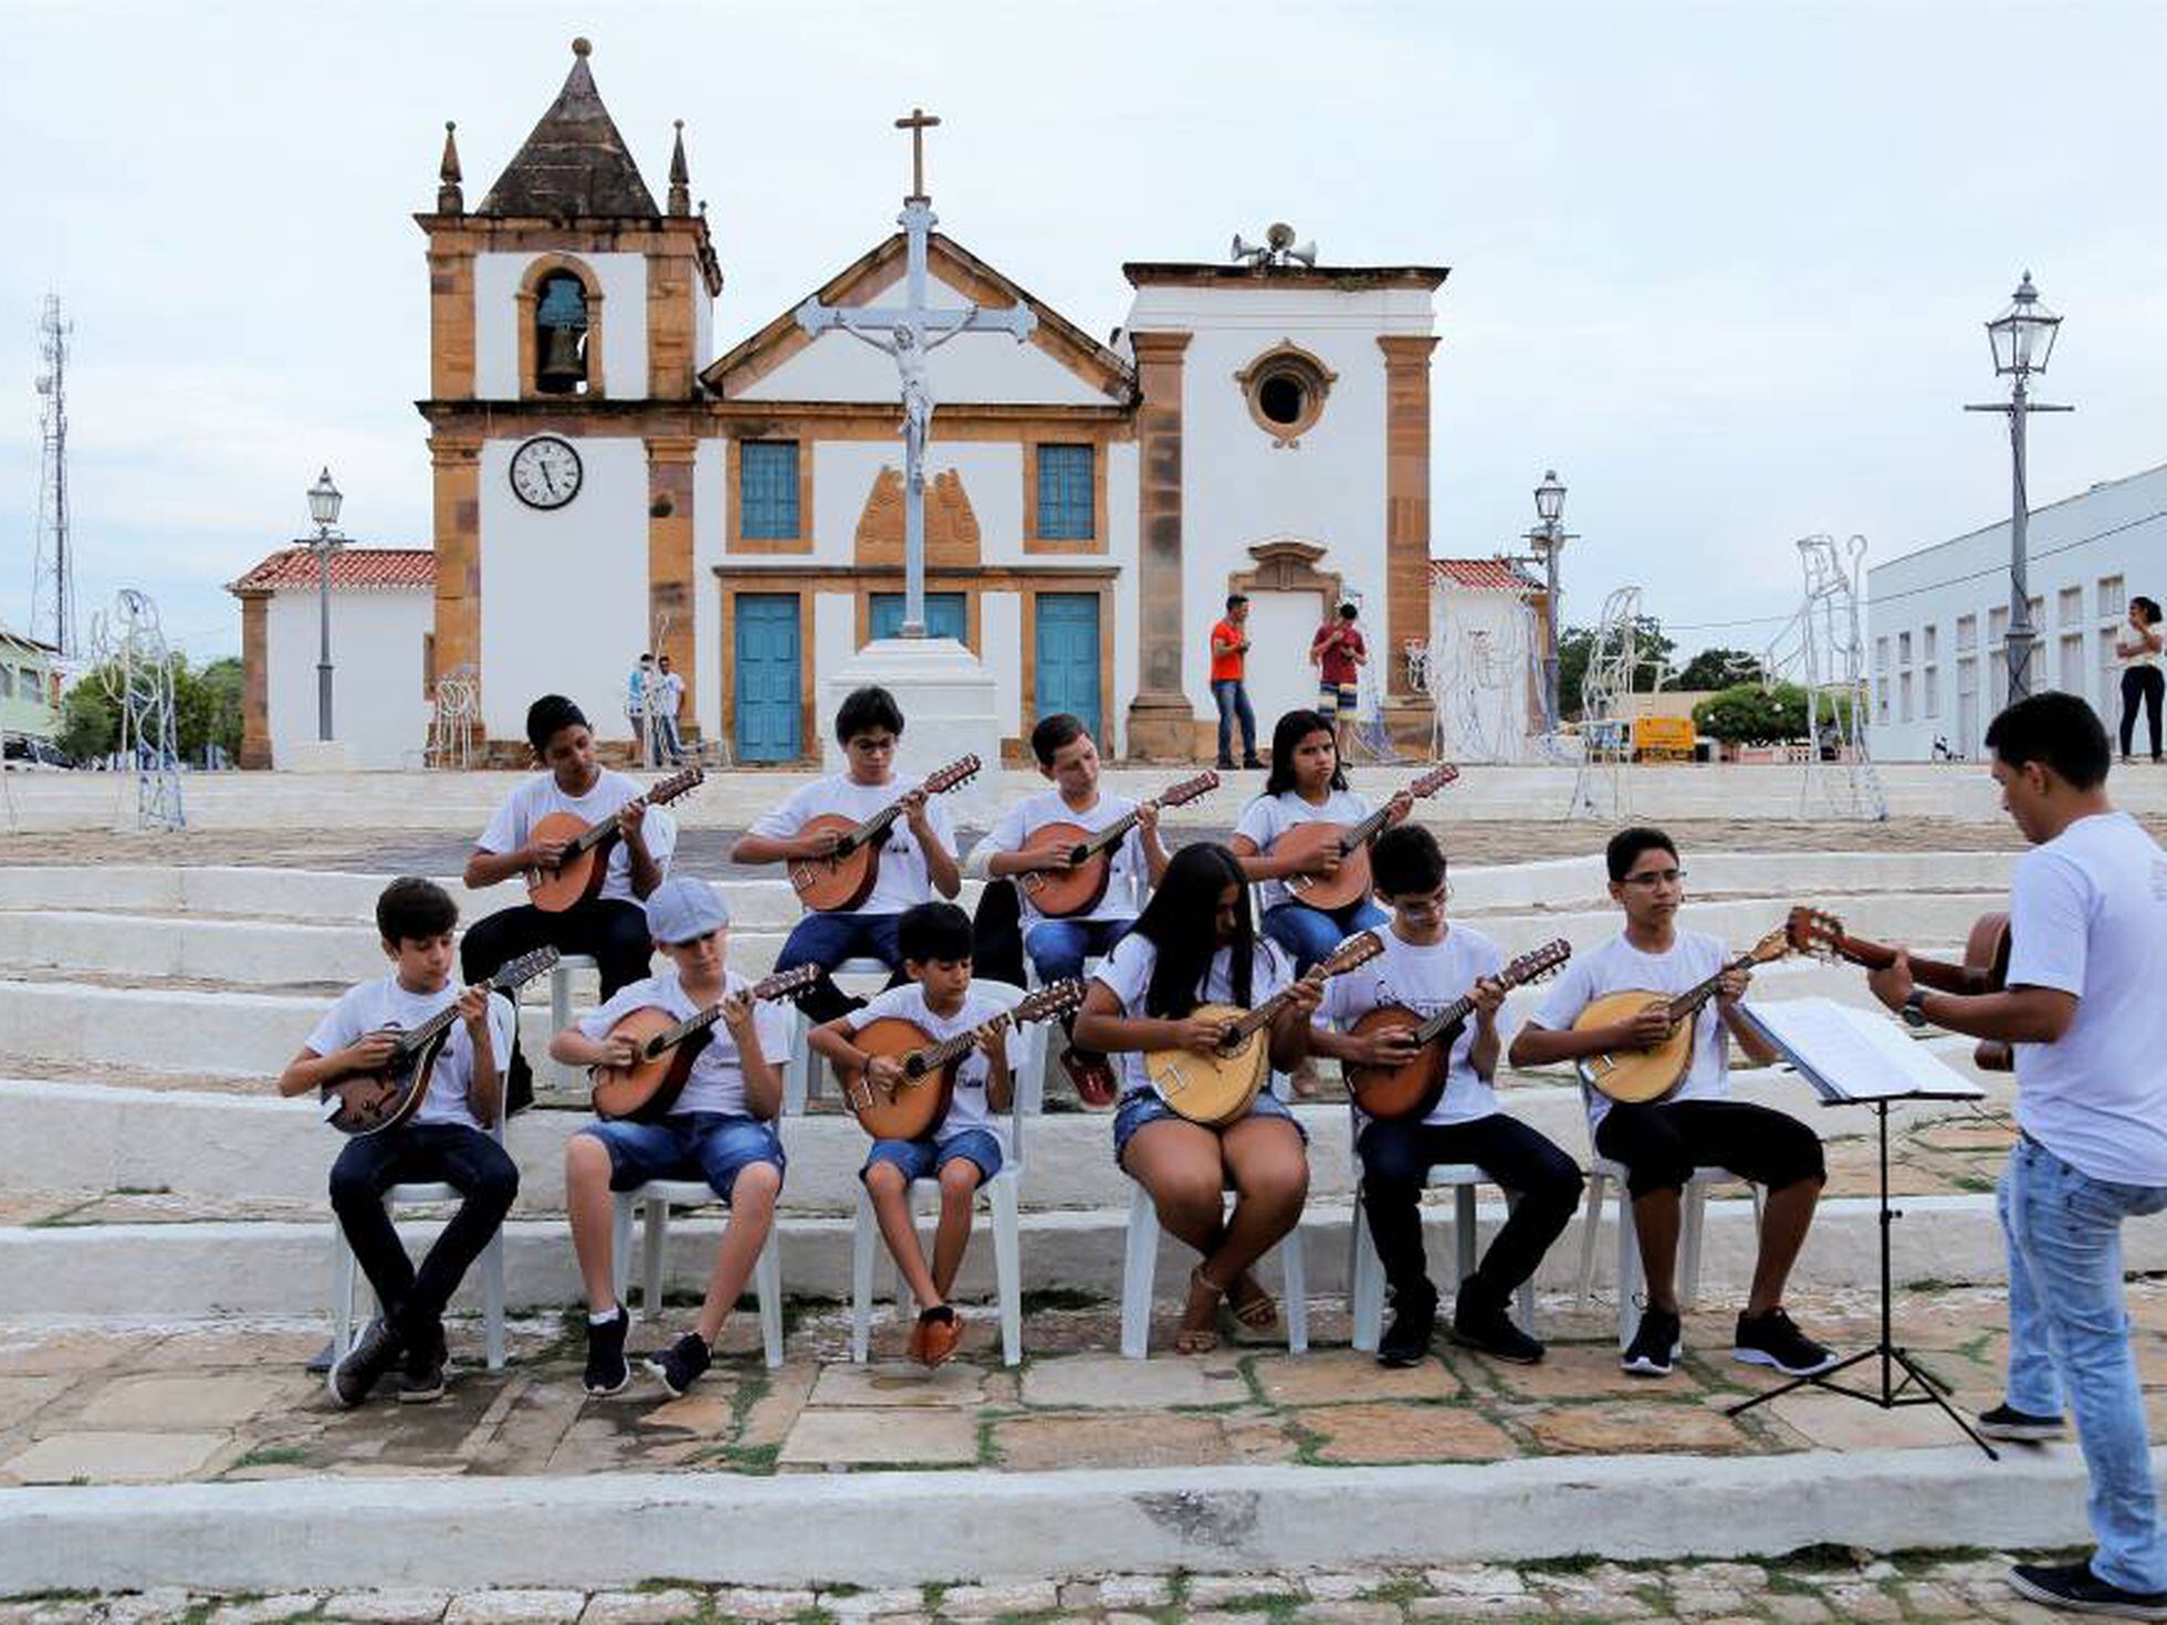
[[[847, 758], [845, 771], [793, 791], [782, 806], [739, 836], [730, 862], [826, 858], [836, 849], [841, 834], [834, 828], [806, 834], [813, 819], [841, 815], [862, 821], [901, 804], [904, 828], [897, 830], [891, 823], [884, 841], [867, 854], [878, 871], [865, 901], [852, 910], [806, 914], [791, 927], [791, 936], [776, 958], [776, 971], [817, 964], [832, 973], [843, 960], [865, 955], [901, 973], [904, 955], [895, 940], [901, 912], [914, 903], [932, 901], [936, 890], [943, 897], [956, 897], [962, 890], [962, 875], [956, 869], [956, 832], [938, 800], [930, 797], [923, 786], [904, 784], [895, 776], [895, 748], [904, 737], [904, 713], [893, 693], [878, 687], [854, 689], [836, 706], [834, 737]], [[834, 1020], [856, 1001], [823, 975], [800, 1003], [813, 1020]]]

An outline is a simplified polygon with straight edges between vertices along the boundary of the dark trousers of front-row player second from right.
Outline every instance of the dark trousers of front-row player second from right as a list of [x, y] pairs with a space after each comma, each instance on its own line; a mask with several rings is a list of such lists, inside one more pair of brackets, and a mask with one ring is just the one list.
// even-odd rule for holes
[[1372, 1122], [1357, 1144], [1370, 1237], [1393, 1291], [1428, 1280], [1422, 1252], [1422, 1181], [1435, 1164], [1471, 1161], [1519, 1200], [1482, 1263], [1461, 1283], [1478, 1304], [1504, 1306], [1534, 1274], [1580, 1207], [1580, 1166], [1504, 1112], [1454, 1124]]

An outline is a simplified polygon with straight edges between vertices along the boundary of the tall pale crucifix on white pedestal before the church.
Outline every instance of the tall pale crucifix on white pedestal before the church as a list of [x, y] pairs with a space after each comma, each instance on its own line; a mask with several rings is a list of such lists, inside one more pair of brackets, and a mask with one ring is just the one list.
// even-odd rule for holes
[[841, 327], [895, 358], [904, 394], [904, 637], [925, 637], [925, 442], [934, 420], [927, 355], [958, 334], [1010, 334], [1021, 344], [1038, 327], [1027, 306], [934, 310], [925, 303], [925, 240], [938, 219], [925, 193], [925, 130], [936, 123], [940, 119], [925, 108], [910, 108], [908, 119], [895, 121], [897, 130], [910, 130], [910, 195], [895, 217], [906, 240], [904, 303], [823, 306], [815, 297], [797, 306], [797, 325], [808, 334]]

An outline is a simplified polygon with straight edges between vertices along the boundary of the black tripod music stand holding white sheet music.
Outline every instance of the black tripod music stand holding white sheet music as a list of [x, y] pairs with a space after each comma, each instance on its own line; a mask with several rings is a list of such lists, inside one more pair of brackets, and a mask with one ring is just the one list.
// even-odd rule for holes
[[[1742, 1415], [1807, 1384], [1864, 1400], [1883, 1410], [1933, 1404], [1963, 1430], [1965, 1439], [1987, 1452], [1987, 1460], [2000, 1460], [2000, 1452], [1981, 1439], [1978, 1430], [1944, 1398], [1950, 1391], [1948, 1384], [1896, 1346], [1890, 1311], [1890, 1224], [1903, 1218], [1903, 1209], [1890, 1207], [1890, 1103], [1978, 1101], [1985, 1098], [1985, 1090], [1868, 1010], [1840, 1005], [1833, 999], [1786, 999], [1764, 1005], [1742, 1003], [1738, 1012], [1799, 1077], [1814, 1086], [1822, 1105], [1874, 1107], [1881, 1142], [1881, 1341], [1838, 1361], [1827, 1372], [1799, 1376], [1766, 1393], [1755, 1393], [1751, 1400], [1729, 1406], [1725, 1415]], [[1829, 1380], [1864, 1361], [1881, 1363], [1879, 1393]]]

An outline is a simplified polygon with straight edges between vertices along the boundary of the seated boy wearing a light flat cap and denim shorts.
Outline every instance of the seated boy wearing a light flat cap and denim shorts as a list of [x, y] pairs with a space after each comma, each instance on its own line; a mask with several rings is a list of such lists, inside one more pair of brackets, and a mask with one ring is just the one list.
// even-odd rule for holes
[[[683, 1092], [661, 1122], [589, 1122], [563, 1148], [563, 1194], [572, 1220], [572, 1250], [587, 1285], [587, 1393], [622, 1393], [633, 1380], [624, 1358], [631, 1320], [618, 1302], [611, 1261], [611, 1192], [637, 1190], [650, 1179], [704, 1179], [730, 1209], [715, 1250], [715, 1270], [693, 1330], [648, 1358], [648, 1369], [670, 1393], [685, 1393], [713, 1363], [713, 1343], [752, 1278], [782, 1190], [782, 1060], [791, 1049], [784, 1005], [754, 1003], [752, 986], [726, 964], [730, 910], [704, 880], [665, 880], [648, 897], [654, 947], [670, 968], [635, 981], [581, 1016], [550, 1040], [548, 1053], [566, 1066], [631, 1066], [633, 1040], [611, 1036], [635, 1010], [659, 1007], [698, 1016], [722, 1005], [706, 1046], [693, 1057]], [[648, 1304], [648, 1313], [654, 1313]]]

